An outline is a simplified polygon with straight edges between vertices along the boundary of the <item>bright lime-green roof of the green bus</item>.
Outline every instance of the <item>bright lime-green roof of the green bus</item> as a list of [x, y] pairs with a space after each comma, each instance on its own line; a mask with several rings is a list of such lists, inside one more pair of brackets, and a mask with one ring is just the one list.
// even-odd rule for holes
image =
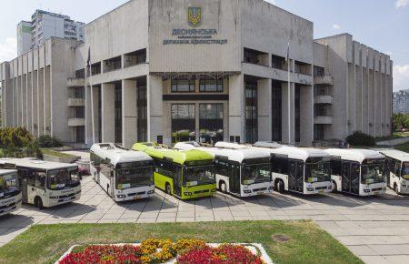
[[214, 159], [214, 157], [205, 151], [201, 150], [185, 150], [178, 151], [171, 148], [165, 148], [155, 143], [135, 143], [132, 147], [134, 150], [145, 151], [145, 153], [151, 157], [157, 158], [171, 158], [175, 163], [185, 164], [186, 161], [197, 161]]

